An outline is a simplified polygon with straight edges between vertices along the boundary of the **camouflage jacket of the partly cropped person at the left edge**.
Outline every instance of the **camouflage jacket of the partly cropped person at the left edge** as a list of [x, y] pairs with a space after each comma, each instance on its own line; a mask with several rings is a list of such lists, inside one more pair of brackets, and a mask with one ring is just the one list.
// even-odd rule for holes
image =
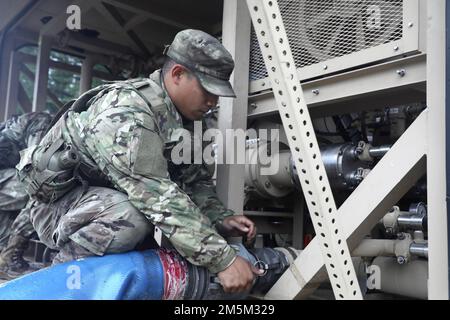
[[3, 123], [0, 131], [0, 169], [14, 168], [20, 160], [19, 152], [38, 144], [51, 120], [48, 113], [30, 112]]

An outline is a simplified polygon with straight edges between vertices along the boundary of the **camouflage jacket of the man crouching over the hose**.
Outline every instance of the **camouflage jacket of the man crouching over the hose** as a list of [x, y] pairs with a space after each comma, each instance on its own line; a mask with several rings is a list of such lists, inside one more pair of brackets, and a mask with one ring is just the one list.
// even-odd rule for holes
[[69, 112], [64, 140], [126, 193], [186, 259], [222, 271], [236, 254], [214, 225], [234, 212], [218, 200], [205, 164], [171, 163], [167, 151], [178, 142], [183, 121], [160, 72], [150, 80], [153, 96], [164, 103], [148, 101], [132, 88], [108, 87], [87, 111]]

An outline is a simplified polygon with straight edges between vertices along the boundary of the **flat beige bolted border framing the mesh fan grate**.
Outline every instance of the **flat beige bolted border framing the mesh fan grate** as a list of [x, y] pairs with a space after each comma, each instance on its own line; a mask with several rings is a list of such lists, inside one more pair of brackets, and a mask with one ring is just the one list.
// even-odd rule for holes
[[[419, 0], [403, 1], [403, 19], [403, 37], [401, 39], [342, 57], [322, 61], [314, 65], [298, 68], [297, 71], [300, 81], [330, 75], [344, 69], [373, 63], [374, 61], [418, 52]], [[268, 78], [250, 82], [250, 94], [270, 88], [271, 84]]]

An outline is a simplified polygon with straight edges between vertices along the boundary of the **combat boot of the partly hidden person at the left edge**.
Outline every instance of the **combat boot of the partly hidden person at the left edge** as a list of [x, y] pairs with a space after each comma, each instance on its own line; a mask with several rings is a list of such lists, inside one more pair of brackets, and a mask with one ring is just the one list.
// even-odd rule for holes
[[20, 235], [9, 238], [8, 245], [0, 254], [0, 279], [12, 280], [33, 271], [23, 258], [28, 243], [29, 239]]

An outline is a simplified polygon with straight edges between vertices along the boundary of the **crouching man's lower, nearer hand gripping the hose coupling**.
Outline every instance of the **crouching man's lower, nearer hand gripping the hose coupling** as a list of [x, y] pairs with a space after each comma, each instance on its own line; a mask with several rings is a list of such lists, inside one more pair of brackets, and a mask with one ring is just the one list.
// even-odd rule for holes
[[228, 268], [219, 272], [217, 276], [226, 293], [236, 293], [250, 291], [255, 275], [263, 273], [264, 270], [259, 270], [238, 256]]

